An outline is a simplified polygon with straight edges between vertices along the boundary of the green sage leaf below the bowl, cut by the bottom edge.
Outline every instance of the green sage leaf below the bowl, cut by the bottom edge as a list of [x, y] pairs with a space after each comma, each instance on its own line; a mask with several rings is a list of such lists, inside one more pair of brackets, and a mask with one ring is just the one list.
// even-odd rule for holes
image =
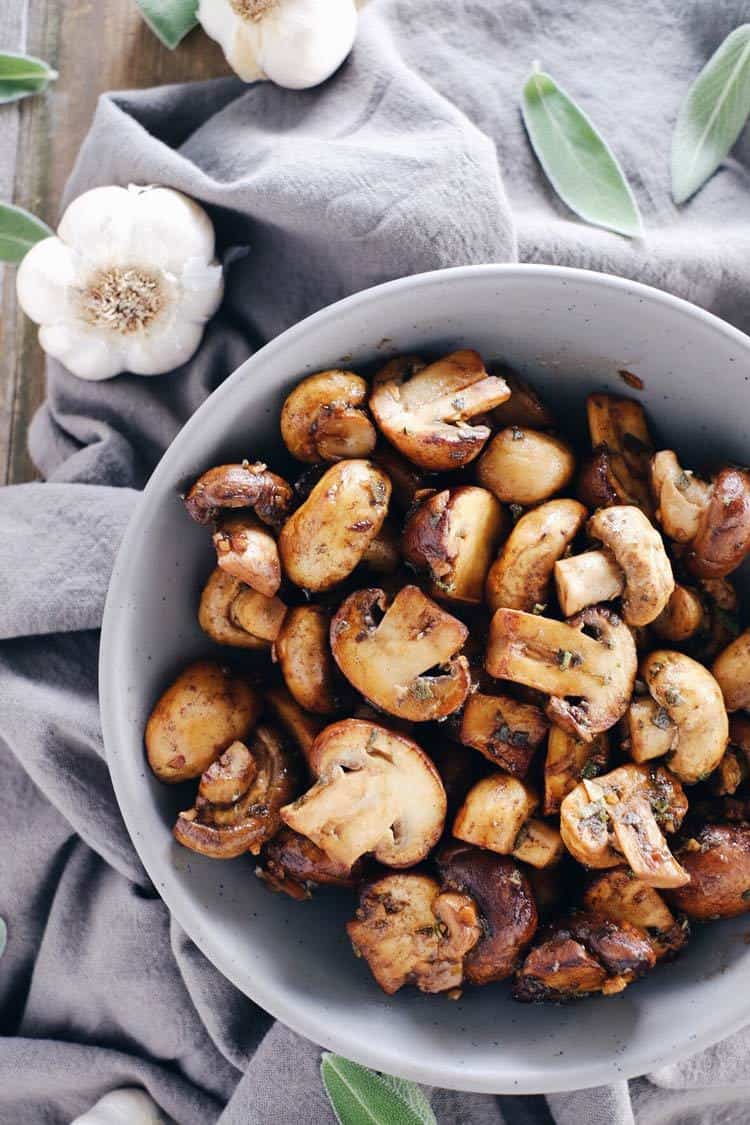
[[377, 1074], [328, 1052], [320, 1061], [320, 1077], [338, 1125], [437, 1125], [415, 1082]]

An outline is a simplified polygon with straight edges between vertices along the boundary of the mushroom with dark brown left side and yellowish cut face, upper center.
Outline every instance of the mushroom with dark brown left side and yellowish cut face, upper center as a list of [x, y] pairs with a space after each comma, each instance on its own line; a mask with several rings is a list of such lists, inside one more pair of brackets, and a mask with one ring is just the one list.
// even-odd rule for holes
[[486, 488], [445, 488], [423, 501], [407, 520], [404, 557], [427, 572], [433, 597], [480, 605], [505, 530], [505, 512]]

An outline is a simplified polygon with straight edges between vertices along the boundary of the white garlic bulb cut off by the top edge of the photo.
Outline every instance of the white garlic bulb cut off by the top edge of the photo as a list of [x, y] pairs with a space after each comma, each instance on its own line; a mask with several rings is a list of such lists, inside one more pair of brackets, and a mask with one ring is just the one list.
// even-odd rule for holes
[[241, 79], [291, 90], [325, 82], [356, 36], [355, 0], [200, 0], [198, 19]]

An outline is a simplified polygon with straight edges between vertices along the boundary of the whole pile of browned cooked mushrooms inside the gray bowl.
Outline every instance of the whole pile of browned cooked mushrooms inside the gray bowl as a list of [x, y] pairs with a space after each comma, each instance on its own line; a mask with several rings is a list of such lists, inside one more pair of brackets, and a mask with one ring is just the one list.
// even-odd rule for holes
[[174, 836], [355, 896], [389, 994], [608, 996], [750, 911], [750, 471], [684, 469], [635, 399], [587, 415], [579, 453], [472, 350], [322, 371], [281, 412], [297, 480], [183, 497], [218, 648], [146, 728], [197, 783]]

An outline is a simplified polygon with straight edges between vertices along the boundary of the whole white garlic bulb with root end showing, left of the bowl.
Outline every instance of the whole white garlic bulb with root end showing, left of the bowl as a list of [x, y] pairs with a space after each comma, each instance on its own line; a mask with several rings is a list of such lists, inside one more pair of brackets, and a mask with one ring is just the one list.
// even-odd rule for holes
[[31, 246], [18, 303], [44, 350], [81, 379], [187, 362], [224, 291], [214, 227], [170, 188], [94, 188]]

